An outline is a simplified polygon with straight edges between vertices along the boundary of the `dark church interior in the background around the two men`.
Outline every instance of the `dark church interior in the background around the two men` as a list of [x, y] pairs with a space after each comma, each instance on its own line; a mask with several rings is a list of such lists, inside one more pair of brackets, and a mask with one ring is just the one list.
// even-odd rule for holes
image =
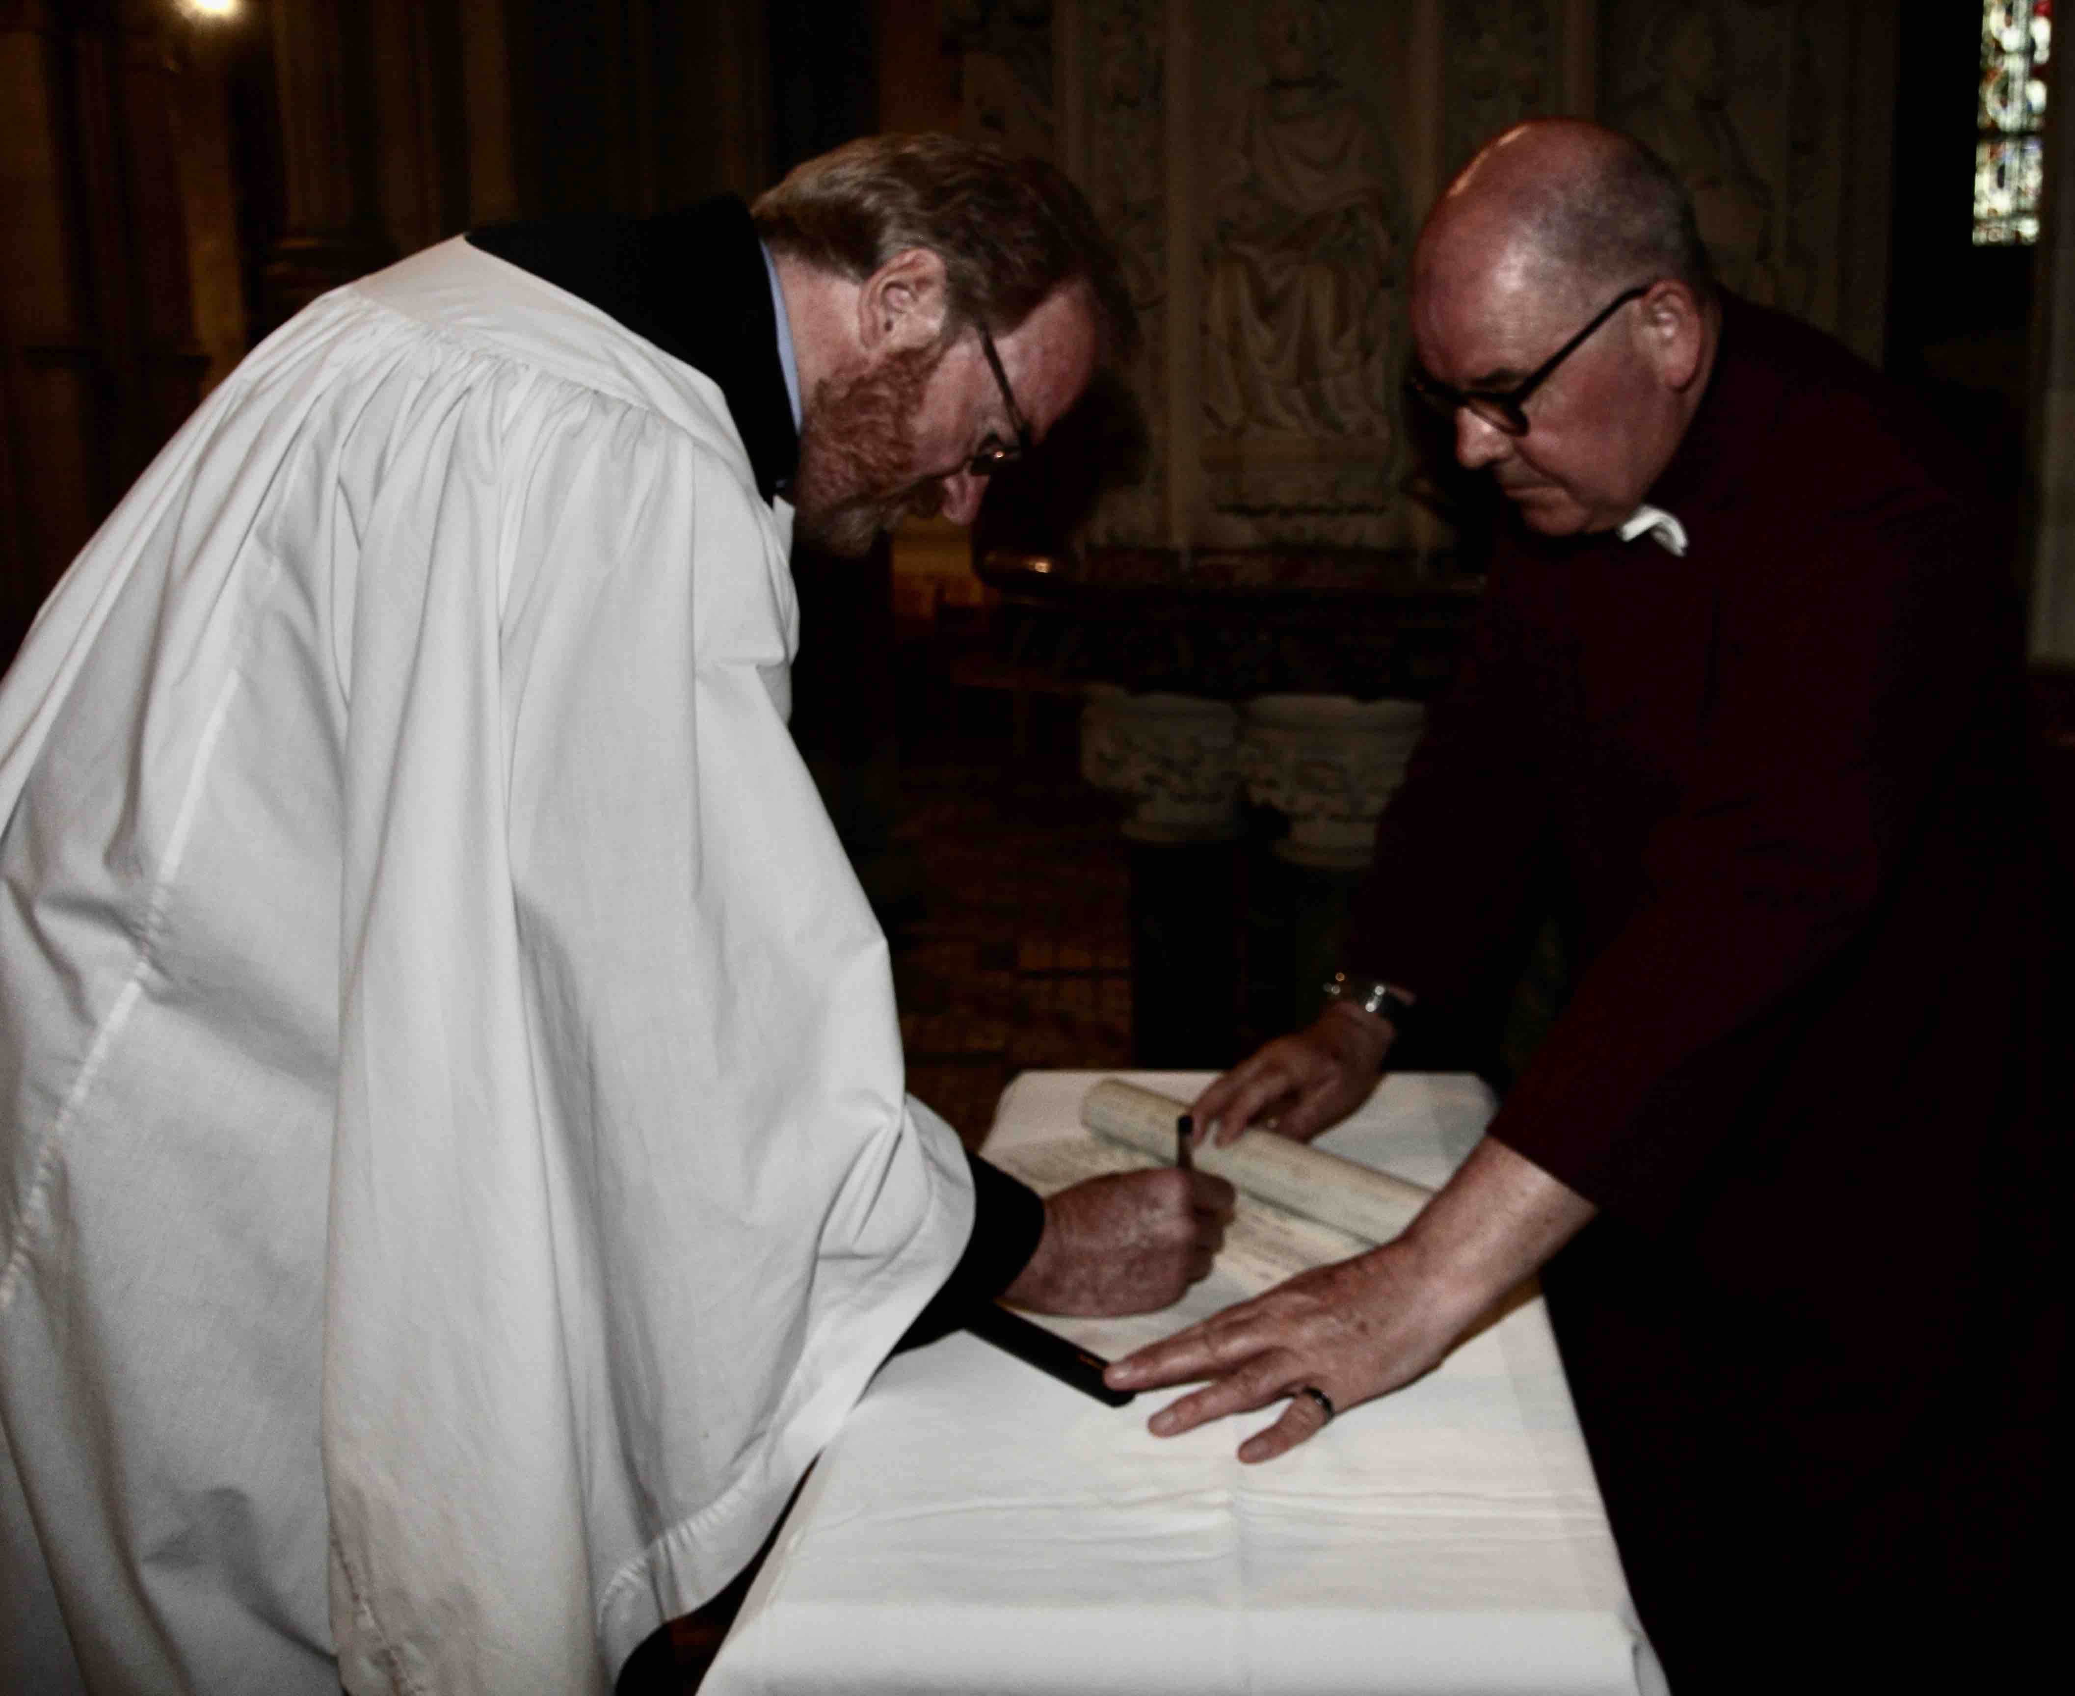
[[[1280, 58], [1241, 39], [1272, 10], [1301, 15]], [[973, 534], [911, 519], [865, 560], [795, 556], [793, 733], [892, 942], [909, 1088], [961, 1136], [1029, 1069], [1216, 1069], [1318, 1013], [1484, 581], [1494, 496], [1399, 405], [1419, 218], [1504, 125], [1583, 114], [1687, 176], [1733, 289], [1980, 450], [2075, 866], [2075, 232], [2054, 206], [2075, 149], [2034, 137], [2044, 199], [1984, 232], [1977, 12], [0, 0], [0, 662], [193, 407], [338, 284], [483, 224], [747, 199], [874, 131], [1044, 154], [1125, 251], [1141, 363], [996, 480]], [[1183, 75], [1218, 31], [1243, 50]], [[1247, 268], [1270, 262], [1220, 199], [1280, 181], [1255, 110], [1299, 85], [1355, 114], [1313, 160], [1338, 232], [1303, 226], [1307, 286], [1367, 326], [1326, 399], [1278, 388], [1307, 330], [1260, 318]], [[1560, 984], [1552, 932], [1523, 928], [1403, 1063], [1502, 1090]], [[697, 1688], [741, 1592], [620, 1690]]]

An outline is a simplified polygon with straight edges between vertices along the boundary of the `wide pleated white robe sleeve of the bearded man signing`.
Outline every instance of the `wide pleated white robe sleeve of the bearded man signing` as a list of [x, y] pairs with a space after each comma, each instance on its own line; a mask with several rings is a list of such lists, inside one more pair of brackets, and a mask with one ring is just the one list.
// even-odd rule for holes
[[784, 724], [739, 450], [409, 411], [351, 515], [324, 1304], [349, 1690], [575, 1692], [714, 1594], [971, 1229]]

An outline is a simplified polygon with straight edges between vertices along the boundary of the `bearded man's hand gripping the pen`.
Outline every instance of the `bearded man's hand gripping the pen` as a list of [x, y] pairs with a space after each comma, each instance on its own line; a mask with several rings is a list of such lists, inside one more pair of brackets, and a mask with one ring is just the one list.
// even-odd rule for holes
[[1210, 1173], [1091, 1177], [1048, 1196], [1044, 1237], [1002, 1300], [1040, 1314], [1174, 1306], [1224, 1246], [1237, 1194]]

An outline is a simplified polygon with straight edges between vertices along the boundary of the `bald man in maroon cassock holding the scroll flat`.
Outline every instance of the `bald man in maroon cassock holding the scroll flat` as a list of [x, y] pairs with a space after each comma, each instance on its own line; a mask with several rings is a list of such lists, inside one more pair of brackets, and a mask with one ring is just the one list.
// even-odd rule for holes
[[1156, 1430], [1293, 1397], [1262, 1459], [1330, 1418], [1293, 1391], [1390, 1391], [1546, 1264], [1681, 1696], [1990, 1688], [2046, 1621], [2071, 1127], [1998, 527], [1876, 372], [1710, 282], [1683, 193], [1608, 131], [1525, 125], [1457, 179], [1413, 332], [1517, 523], [1347, 992], [1195, 1111], [1313, 1136], [1548, 888], [1575, 980], [1405, 1237], [1118, 1383], [1212, 1378]]

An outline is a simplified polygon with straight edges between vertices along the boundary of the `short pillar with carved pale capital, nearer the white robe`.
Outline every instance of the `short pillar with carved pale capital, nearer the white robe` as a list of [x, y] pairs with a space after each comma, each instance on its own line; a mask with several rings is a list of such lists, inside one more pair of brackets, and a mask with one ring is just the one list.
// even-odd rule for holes
[[1239, 714], [1197, 695], [1089, 689], [1081, 774], [1131, 803], [1131, 1059], [1239, 1055]]

